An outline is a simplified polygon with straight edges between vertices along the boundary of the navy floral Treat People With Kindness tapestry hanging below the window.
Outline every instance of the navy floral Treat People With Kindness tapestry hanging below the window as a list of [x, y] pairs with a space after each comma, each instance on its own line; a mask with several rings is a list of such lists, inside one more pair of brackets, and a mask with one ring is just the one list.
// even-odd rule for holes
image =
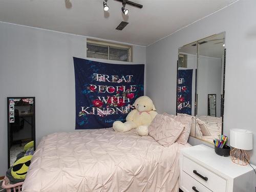
[[124, 122], [144, 94], [144, 65], [119, 65], [73, 57], [76, 129], [112, 127]]

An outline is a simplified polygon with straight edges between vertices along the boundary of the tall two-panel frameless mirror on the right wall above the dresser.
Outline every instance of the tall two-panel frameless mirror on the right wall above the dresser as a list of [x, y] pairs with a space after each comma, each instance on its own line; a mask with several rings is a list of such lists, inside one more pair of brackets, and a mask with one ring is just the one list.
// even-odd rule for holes
[[214, 144], [223, 132], [225, 32], [179, 48], [177, 114], [191, 115], [190, 136]]

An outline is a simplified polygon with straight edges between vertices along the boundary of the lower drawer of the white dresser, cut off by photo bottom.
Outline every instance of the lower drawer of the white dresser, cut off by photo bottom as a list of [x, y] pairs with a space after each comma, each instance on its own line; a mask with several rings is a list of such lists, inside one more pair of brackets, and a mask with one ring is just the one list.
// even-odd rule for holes
[[181, 189], [184, 192], [212, 192], [196, 179], [190, 177], [185, 172], [182, 172]]

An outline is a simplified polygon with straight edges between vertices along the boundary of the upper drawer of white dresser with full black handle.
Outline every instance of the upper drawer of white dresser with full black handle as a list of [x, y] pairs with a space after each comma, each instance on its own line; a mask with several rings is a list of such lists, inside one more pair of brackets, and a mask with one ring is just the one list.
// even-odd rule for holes
[[183, 156], [183, 171], [212, 191], [225, 192], [226, 180]]

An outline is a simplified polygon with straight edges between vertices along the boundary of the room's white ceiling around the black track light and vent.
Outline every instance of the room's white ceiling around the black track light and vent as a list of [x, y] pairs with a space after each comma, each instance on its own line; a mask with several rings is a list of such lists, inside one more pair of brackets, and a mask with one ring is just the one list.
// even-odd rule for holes
[[[143, 8], [109, 0], [1, 0], [0, 21], [147, 46], [237, 0], [133, 0]], [[122, 31], [115, 28], [129, 22]]]

